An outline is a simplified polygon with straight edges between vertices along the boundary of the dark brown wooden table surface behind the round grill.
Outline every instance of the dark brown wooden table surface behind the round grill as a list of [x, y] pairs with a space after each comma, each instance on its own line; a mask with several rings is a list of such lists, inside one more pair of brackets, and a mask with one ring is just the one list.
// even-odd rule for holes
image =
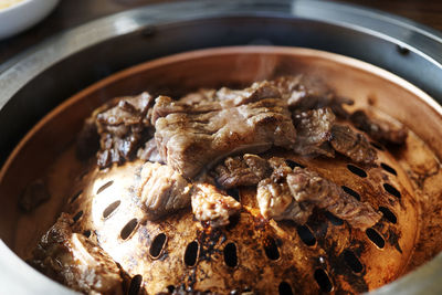
[[[168, 1], [62, 0], [59, 7], [48, 18], [34, 28], [17, 36], [0, 41], [0, 64], [17, 53], [62, 30], [115, 12], [159, 2]], [[339, 0], [339, 2], [379, 9], [442, 31], [442, 0]]]

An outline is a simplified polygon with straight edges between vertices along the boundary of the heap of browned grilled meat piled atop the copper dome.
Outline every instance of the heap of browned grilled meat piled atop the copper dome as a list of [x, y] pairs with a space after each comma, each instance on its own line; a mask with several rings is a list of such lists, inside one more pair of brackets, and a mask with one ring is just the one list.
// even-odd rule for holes
[[[304, 76], [244, 89], [200, 89], [180, 99], [143, 93], [97, 108], [80, 136], [78, 155], [96, 152], [101, 168], [145, 160], [134, 183], [152, 221], [191, 206], [196, 220], [223, 226], [242, 208], [227, 190], [255, 187], [264, 219], [302, 224], [317, 208], [366, 230], [381, 218], [369, 203], [317, 171], [263, 156], [277, 147], [305, 157], [340, 154], [373, 165], [376, 149], [349, 122], [378, 141], [404, 143], [402, 127], [364, 110], [349, 113], [344, 105], [351, 104]], [[91, 151], [95, 138], [99, 147]]]

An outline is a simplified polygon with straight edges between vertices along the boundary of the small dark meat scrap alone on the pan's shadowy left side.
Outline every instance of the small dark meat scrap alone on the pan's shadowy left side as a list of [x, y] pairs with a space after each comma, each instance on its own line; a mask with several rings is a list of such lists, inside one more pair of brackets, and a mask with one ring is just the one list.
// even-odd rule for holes
[[27, 186], [20, 196], [19, 206], [25, 212], [31, 212], [49, 199], [51, 199], [51, 194], [48, 191], [46, 183], [43, 179], [36, 179]]

